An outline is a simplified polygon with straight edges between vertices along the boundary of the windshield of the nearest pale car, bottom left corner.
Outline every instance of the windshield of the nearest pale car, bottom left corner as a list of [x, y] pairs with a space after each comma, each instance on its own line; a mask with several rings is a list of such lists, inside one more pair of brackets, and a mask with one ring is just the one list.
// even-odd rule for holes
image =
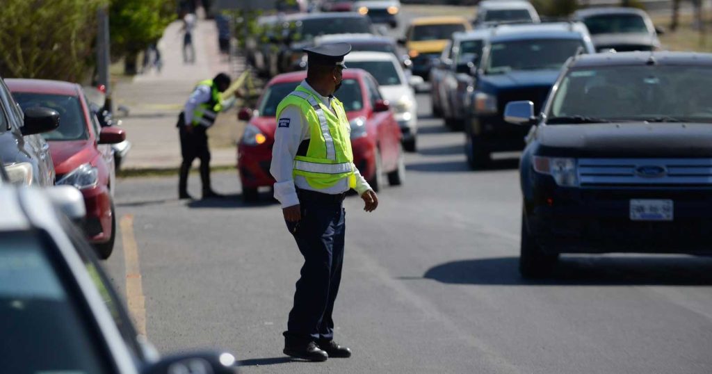
[[4, 373], [106, 373], [73, 282], [41, 232], [0, 234]]

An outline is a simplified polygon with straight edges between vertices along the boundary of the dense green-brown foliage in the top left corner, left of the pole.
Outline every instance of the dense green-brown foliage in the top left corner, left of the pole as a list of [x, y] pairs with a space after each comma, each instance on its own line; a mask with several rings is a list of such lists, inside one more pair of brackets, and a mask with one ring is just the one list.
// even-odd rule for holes
[[3, 0], [0, 74], [80, 81], [95, 63], [98, 6], [108, 0]]

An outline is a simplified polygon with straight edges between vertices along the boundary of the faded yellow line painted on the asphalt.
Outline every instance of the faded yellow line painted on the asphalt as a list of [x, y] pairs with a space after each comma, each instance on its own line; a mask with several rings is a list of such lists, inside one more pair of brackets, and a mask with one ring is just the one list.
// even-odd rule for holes
[[138, 266], [138, 247], [133, 234], [133, 215], [121, 217], [121, 237], [126, 264], [126, 301], [137, 332], [146, 336], [146, 298], [143, 296], [141, 269]]

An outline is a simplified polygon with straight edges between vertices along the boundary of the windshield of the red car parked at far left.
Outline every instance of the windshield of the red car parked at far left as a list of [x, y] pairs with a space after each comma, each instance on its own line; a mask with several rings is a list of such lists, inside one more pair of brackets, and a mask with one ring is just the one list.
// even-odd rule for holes
[[86, 140], [87, 125], [78, 98], [47, 93], [16, 92], [12, 94], [23, 110], [33, 107], [54, 109], [59, 113], [59, 128], [43, 133], [46, 140]]

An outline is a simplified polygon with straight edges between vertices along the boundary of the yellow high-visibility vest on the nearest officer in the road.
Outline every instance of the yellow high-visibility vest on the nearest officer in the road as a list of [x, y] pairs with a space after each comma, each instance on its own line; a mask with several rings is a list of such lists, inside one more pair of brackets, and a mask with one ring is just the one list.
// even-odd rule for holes
[[294, 157], [293, 175], [301, 175], [315, 189], [325, 189], [348, 178], [356, 187], [349, 120], [344, 105], [333, 98], [331, 109], [313, 93], [302, 87], [287, 95], [277, 106], [277, 118], [288, 105], [302, 110], [309, 124], [309, 147], [306, 155]]

